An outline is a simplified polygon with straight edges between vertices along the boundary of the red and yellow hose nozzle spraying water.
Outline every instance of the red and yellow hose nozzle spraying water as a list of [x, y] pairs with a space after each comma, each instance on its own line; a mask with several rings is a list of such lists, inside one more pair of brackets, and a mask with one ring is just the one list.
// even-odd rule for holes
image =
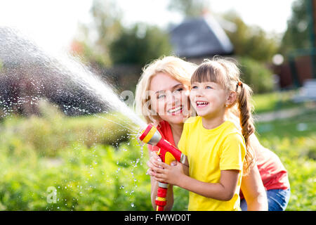
[[[180, 152], [178, 148], [171, 145], [166, 139], [163, 139], [159, 131], [152, 124], [148, 124], [147, 128], [144, 129], [139, 139], [152, 146], [159, 147], [158, 155], [162, 159], [162, 162], [171, 165], [171, 162], [177, 160], [185, 164], [186, 155]], [[163, 211], [166, 205], [166, 194], [169, 184], [158, 182], [157, 198], [155, 203], [157, 205], [157, 211]]]

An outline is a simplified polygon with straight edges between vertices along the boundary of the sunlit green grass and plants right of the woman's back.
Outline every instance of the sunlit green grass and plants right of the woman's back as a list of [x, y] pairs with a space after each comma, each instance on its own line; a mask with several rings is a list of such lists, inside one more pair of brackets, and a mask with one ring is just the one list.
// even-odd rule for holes
[[287, 210], [316, 210], [316, 110], [256, 124], [263, 146], [274, 151], [289, 174]]

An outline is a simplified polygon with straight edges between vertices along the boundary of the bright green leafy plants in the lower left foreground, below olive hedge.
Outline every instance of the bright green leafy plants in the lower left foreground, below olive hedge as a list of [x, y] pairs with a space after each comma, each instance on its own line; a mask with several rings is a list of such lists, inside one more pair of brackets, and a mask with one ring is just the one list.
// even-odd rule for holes
[[[150, 180], [139, 147], [77, 144], [55, 160], [28, 161], [3, 151], [1, 158], [1, 210], [150, 210]], [[48, 201], [48, 188], [56, 191], [55, 203]]]

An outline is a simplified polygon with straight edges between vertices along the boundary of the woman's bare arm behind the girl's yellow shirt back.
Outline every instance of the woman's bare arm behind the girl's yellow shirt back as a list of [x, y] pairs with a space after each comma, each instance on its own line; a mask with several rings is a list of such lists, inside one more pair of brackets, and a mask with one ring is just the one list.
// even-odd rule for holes
[[242, 193], [247, 203], [248, 211], [267, 211], [268, 199], [261, 176], [256, 165], [251, 165], [249, 174], [242, 177]]

